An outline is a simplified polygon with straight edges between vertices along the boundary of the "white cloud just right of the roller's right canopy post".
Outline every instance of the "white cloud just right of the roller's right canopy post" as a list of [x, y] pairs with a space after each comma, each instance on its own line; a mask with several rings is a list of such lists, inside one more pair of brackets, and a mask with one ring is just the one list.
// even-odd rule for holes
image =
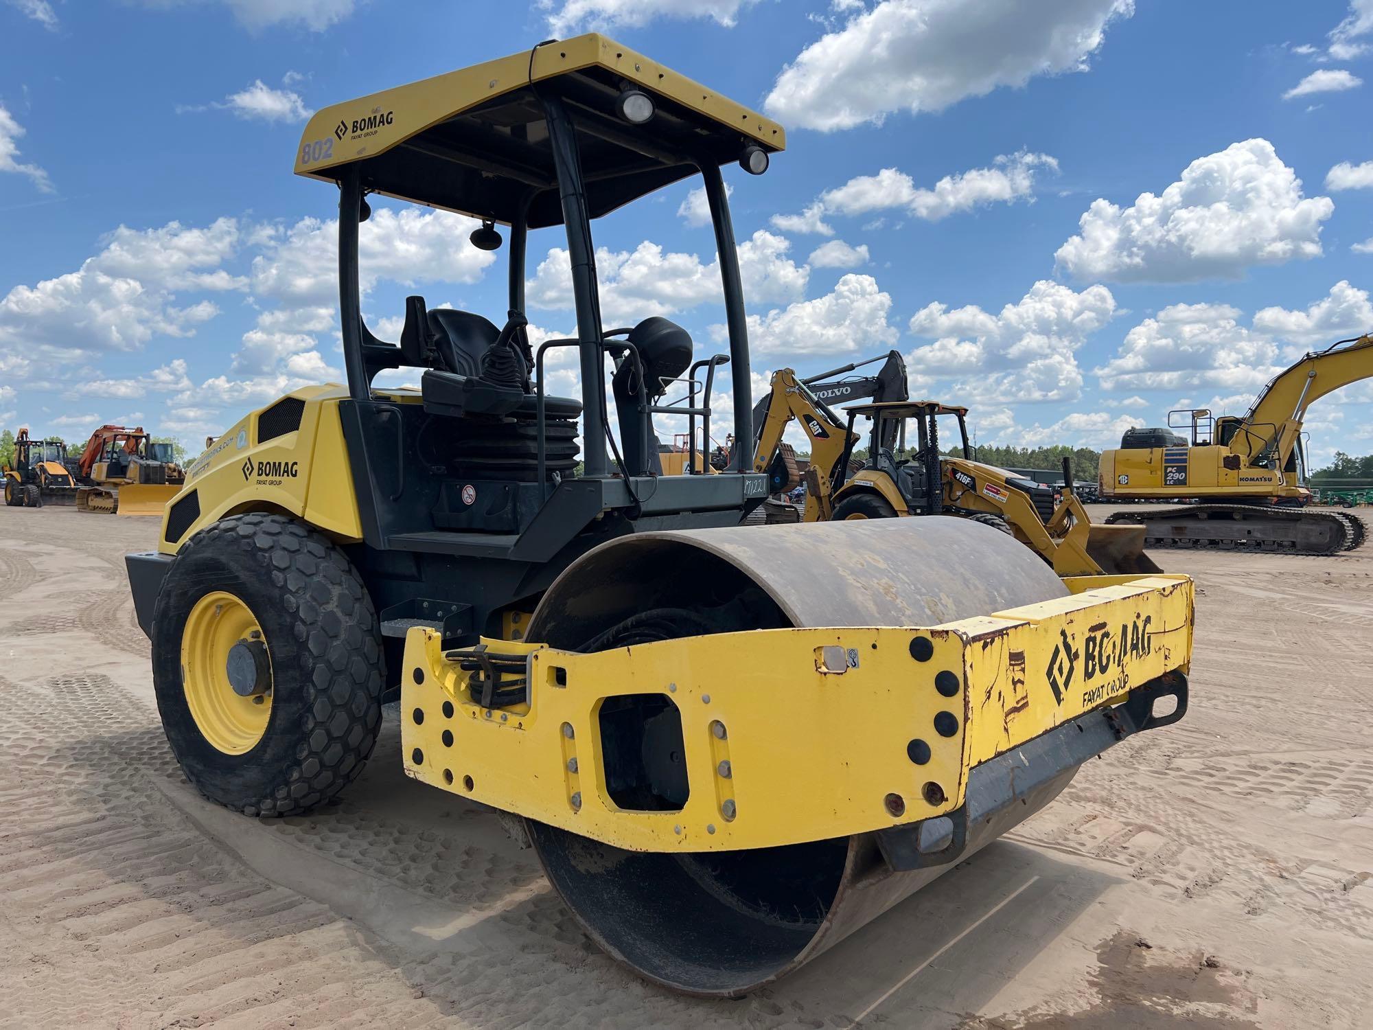
[[[748, 346], [758, 354], [844, 354], [897, 342], [887, 324], [891, 295], [872, 276], [850, 272], [824, 297], [798, 301], [765, 316], [748, 316]], [[722, 325], [715, 339], [728, 339]]]

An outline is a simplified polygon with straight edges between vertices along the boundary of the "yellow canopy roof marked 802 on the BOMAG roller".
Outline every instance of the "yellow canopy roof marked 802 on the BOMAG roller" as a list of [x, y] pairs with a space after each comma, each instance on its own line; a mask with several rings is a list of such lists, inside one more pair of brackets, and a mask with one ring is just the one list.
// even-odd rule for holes
[[[626, 84], [654, 98], [648, 124], [614, 117]], [[305, 128], [295, 172], [335, 181], [357, 165], [368, 190], [501, 222], [533, 195], [530, 225], [560, 224], [540, 89], [577, 122], [593, 217], [692, 174], [696, 161], [785, 147], [777, 122], [590, 33], [325, 107]]]

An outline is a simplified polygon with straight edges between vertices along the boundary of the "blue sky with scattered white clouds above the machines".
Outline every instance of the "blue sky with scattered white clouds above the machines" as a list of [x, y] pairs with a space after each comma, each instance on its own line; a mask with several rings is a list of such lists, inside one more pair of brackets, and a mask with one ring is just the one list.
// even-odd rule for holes
[[[1104, 446], [1373, 331], [1373, 0], [0, 0], [0, 426], [194, 452], [338, 378], [308, 113], [586, 29], [788, 128], [766, 176], [726, 172], [757, 389], [898, 347], [982, 442]], [[504, 251], [402, 207], [364, 227], [373, 328], [408, 293], [501, 321]], [[608, 321], [714, 349], [688, 185], [596, 242]], [[529, 268], [559, 334], [560, 244]], [[1373, 450], [1373, 390], [1307, 427], [1317, 460]]]

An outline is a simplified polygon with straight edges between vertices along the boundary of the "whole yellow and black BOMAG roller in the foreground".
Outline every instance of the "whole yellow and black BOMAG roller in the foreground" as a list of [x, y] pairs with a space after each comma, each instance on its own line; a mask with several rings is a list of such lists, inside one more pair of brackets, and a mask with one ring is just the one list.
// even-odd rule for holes
[[[718, 475], [656, 474], [649, 416], [692, 342], [656, 317], [603, 328], [592, 225], [699, 177], [752, 439], [721, 166], [761, 174], [783, 144], [595, 34], [312, 118], [297, 172], [339, 196], [347, 385], [217, 438], [158, 551], [128, 559], [163, 725], [207, 798], [258, 817], [335, 798], [398, 688], [406, 775], [514, 816], [614, 959], [737, 996], [1182, 716], [1186, 577], [1063, 581], [954, 518], [739, 526], [766, 493], [746, 448]], [[481, 247], [508, 227], [504, 327], [409, 298], [398, 343], [373, 336], [371, 194], [472, 216]], [[531, 353], [527, 236], [553, 227], [578, 331]], [[575, 349], [579, 400], [544, 393], [553, 347]], [[419, 389], [372, 386], [397, 367]]]

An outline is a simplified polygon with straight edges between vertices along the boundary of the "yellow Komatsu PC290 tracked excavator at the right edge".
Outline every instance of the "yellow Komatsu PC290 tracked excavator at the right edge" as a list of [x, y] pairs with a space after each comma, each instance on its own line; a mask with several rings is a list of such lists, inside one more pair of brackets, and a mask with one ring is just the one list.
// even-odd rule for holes
[[1341, 339], [1274, 376], [1244, 417], [1182, 409], [1168, 413], [1168, 428], [1127, 431], [1120, 449], [1101, 455], [1101, 500], [1196, 503], [1119, 511], [1108, 522], [1142, 526], [1148, 547], [1352, 551], [1365, 538], [1361, 519], [1306, 510], [1302, 423], [1314, 401], [1370, 376], [1373, 336]]

